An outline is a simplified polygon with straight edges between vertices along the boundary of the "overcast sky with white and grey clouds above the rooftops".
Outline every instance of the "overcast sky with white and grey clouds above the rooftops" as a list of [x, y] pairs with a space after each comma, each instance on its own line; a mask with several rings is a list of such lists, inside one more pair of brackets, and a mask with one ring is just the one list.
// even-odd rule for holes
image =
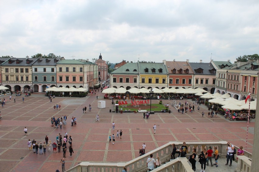
[[0, 56], [209, 62], [259, 54], [258, 0], [0, 1]]

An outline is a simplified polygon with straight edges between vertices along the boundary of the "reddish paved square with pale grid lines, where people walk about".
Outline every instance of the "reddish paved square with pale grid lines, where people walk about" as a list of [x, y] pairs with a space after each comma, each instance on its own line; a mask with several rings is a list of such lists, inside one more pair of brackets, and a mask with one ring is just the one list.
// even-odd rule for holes
[[[102, 94], [97, 92], [99, 98]], [[110, 113], [112, 104], [106, 101], [106, 108], [97, 108], [96, 96], [86, 98], [56, 97], [50, 103], [42, 93], [33, 93], [30, 97], [16, 97], [16, 103], [9, 101], [9, 96], [2, 108], [0, 120], [0, 171], [55, 171], [61, 170], [60, 159], [62, 152], [53, 151], [40, 155], [30, 151], [28, 139], [43, 142], [46, 135], [53, 142], [57, 134], [66, 131], [73, 138], [74, 154], [69, 157], [66, 154], [66, 169], [69, 169], [81, 161], [90, 162], [127, 162], [139, 156], [138, 149], [143, 143], [147, 145], [149, 152], [169, 141], [229, 141], [237, 146], [245, 146], [246, 121], [227, 121], [221, 115], [218, 118], [202, 117], [202, 111], [208, 113], [208, 109], [201, 105], [200, 111], [184, 114], [171, 109], [171, 113], [151, 114], [149, 119], [143, 119], [141, 113]], [[3, 97], [1, 97], [3, 98]], [[191, 102], [189, 100], [189, 102]], [[152, 103], [158, 103], [152, 100]], [[171, 104], [171, 101], [163, 100], [163, 104]], [[55, 104], [61, 105], [60, 111], [54, 111]], [[83, 114], [84, 106], [92, 105], [92, 111]], [[195, 106], [195, 109], [197, 106]], [[99, 114], [100, 121], [95, 121]], [[50, 118], [66, 115], [67, 126], [60, 129], [50, 126]], [[76, 116], [78, 124], [71, 127], [69, 119]], [[115, 131], [112, 130], [112, 121], [115, 122]], [[156, 134], [153, 132], [154, 124], [157, 125]], [[28, 136], [24, 135], [24, 127], [28, 128]], [[250, 123], [254, 127], [254, 121]], [[123, 130], [122, 139], [116, 138], [115, 144], [109, 143], [109, 135], [116, 135], [117, 130]], [[248, 134], [248, 149], [252, 153], [254, 134]], [[222, 159], [224, 161], [224, 159]], [[198, 163], [197, 163], [198, 164]], [[197, 167], [200, 165], [196, 165]], [[232, 166], [233, 167], [233, 166]], [[208, 170], [210, 167], [207, 167]], [[216, 168], [216, 167], [215, 167]], [[224, 167], [226, 168], [226, 167]], [[197, 168], [198, 169], [198, 168]], [[208, 171], [206, 170], [206, 171]], [[214, 171], [211, 169], [211, 171]]]

